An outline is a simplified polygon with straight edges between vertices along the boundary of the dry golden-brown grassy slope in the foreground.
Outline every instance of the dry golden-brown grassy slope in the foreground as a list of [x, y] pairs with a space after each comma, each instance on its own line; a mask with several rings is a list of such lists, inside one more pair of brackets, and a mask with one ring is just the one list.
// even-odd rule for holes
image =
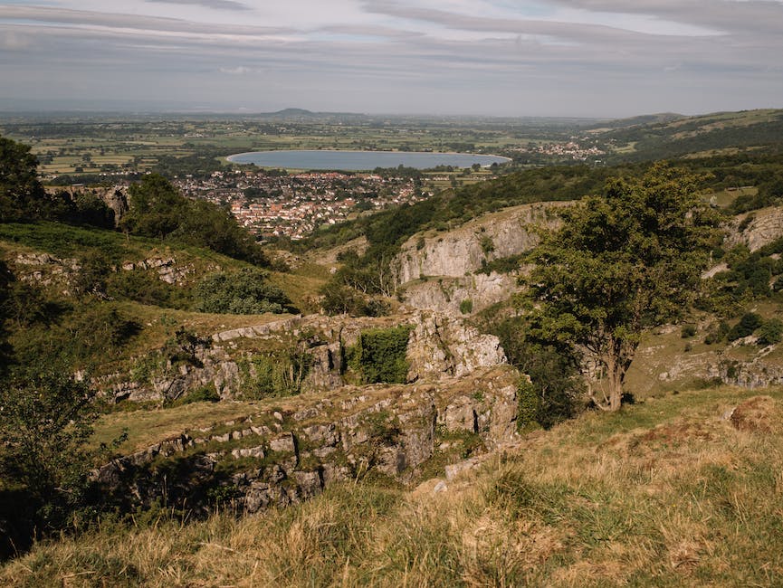
[[783, 389], [649, 399], [530, 433], [437, 486], [334, 486], [243, 519], [103, 521], [35, 545], [0, 583], [779, 585], [781, 417]]

